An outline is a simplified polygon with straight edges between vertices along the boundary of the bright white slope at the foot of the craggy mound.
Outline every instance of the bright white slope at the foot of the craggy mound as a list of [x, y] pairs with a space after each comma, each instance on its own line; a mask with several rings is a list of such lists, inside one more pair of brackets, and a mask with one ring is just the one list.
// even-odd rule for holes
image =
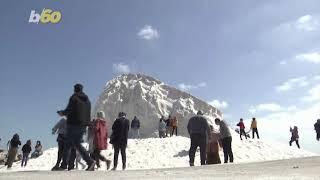
[[[284, 144], [252, 139], [240, 141], [237, 136], [234, 136], [233, 139], [235, 163], [280, 160], [316, 155]], [[103, 154], [113, 160], [113, 150], [111, 146], [109, 147], [110, 148], [103, 152]], [[127, 148], [127, 169], [188, 167], [189, 147], [190, 139], [180, 136], [164, 139], [130, 139]], [[21, 168], [20, 163], [18, 162], [13, 165], [11, 170], [1, 168], [0, 172], [50, 170], [56, 162], [56, 156], [57, 148], [51, 148], [44, 151], [44, 154], [41, 157], [30, 159], [26, 168]], [[196, 166], [199, 166], [199, 152], [197, 152], [196, 156], [195, 164]], [[222, 151], [220, 151], [220, 157], [223, 159]], [[105, 165], [102, 165], [100, 170], [105, 170]], [[119, 156], [119, 167], [121, 168], [121, 156]]]

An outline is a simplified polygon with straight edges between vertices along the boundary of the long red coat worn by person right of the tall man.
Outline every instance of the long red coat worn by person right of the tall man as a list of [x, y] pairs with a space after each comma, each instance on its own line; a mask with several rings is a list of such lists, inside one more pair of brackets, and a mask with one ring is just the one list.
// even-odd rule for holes
[[97, 119], [93, 124], [94, 139], [93, 144], [97, 150], [106, 150], [108, 147], [108, 133], [107, 122], [101, 119]]

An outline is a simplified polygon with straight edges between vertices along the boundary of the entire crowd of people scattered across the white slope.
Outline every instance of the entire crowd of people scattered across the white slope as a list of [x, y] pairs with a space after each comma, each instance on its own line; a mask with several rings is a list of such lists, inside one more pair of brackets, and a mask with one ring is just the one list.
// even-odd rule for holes
[[[116, 170], [118, 166], [118, 156], [121, 153], [122, 170], [126, 169], [126, 148], [128, 143], [129, 130], [131, 128], [131, 137], [140, 138], [140, 120], [134, 116], [130, 121], [126, 118], [126, 113], [119, 112], [118, 117], [112, 125], [112, 133], [108, 132], [107, 122], [103, 111], [97, 112], [95, 119], [91, 120], [91, 103], [88, 96], [83, 92], [83, 86], [76, 84], [74, 93], [69, 98], [67, 107], [64, 110], [57, 111], [60, 120], [52, 128], [52, 134], [57, 134], [58, 152], [57, 161], [52, 171], [72, 170], [78, 168], [78, 164], [83, 167], [81, 159], [86, 162], [87, 171], [94, 171], [95, 167], [100, 168], [100, 161], [106, 163], [107, 170], [111, 166], [111, 160], [101, 154], [102, 150], [108, 149], [109, 143], [112, 144], [114, 150], [113, 168]], [[219, 126], [219, 130], [215, 129], [208, 123], [202, 111], [191, 117], [188, 121], [187, 130], [190, 135], [191, 144], [189, 150], [189, 165], [194, 166], [195, 153], [200, 148], [201, 165], [220, 164], [219, 148], [222, 147], [224, 153], [224, 163], [232, 163], [234, 156], [232, 152], [232, 135], [227, 123], [219, 118], [214, 120]], [[241, 118], [239, 123], [240, 139], [242, 136], [246, 139], [249, 133], [245, 131], [245, 124]], [[320, 119], [314, 124], [317, 133], [317, 140], [320, 140]], [[259, 139], [258, 126], [256, 118], [252, 118], [250, 130], [252, 130], [252, 138], [255, 135]], [[88, 147], [83, 146], [83, 136], [87, 132]], [[158, 126], [159, 138], [171, 137], [178, 135], [178, 119], [176, 116], [169, 115], [167, 119], [162, 116]], [[290, 127], [292, 134], [289, 142], [290, 146], [293, 142], [299, 145], [298, 127]], [[9, 141], [9, 151], [6, 165], [12, 167], [19, 146], [21, 145], [18, 134], [14, 134]], [[31, 140], [22, 147], [21, 166], [27, 165], [31, 148]], [[31, 158], [37, 158], [43, 153], [40, 141], [36, 142], [35, 150], [31, 154]]]

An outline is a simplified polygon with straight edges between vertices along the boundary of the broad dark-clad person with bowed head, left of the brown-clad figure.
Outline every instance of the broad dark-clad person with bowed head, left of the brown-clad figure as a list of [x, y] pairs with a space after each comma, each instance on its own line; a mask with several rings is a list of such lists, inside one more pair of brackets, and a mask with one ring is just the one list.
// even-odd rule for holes
[[203, 116], [202, 111], [198, 111], [196, 116], [189, 119], [187, 128], [191, 139], [189, 150], [190, 166], [194, 166], [194, 157], [198, 146], [200, 147], [201, 165], [205, 165], [206, 145], [210, 137], [210, 126], [207, 119]]

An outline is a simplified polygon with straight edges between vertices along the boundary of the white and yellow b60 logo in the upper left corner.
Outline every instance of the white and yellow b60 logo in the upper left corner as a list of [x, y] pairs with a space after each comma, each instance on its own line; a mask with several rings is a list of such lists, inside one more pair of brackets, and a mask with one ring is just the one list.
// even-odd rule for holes
[[59, 11], [53, 11], [51, 9], [44, 8], [41, 14], [36, 13], [35, 10], [32, 10], [29, 17], [29, 23], [53, 23], [56, 24], [61, 20], [61, 13]]

